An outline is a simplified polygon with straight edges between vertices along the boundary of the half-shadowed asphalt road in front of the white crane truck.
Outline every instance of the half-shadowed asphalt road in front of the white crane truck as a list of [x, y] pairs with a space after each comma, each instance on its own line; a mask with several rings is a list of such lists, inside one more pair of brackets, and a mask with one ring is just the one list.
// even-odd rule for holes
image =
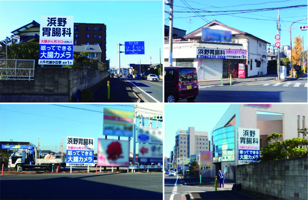
[[162, 199], [162, 173], [2, 175], [0, 199]]

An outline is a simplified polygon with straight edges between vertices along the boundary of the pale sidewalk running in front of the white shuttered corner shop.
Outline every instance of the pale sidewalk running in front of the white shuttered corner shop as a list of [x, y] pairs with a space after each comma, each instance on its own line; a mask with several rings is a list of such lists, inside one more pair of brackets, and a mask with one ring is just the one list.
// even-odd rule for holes
[[[232, 85], [257, 85], [257, 84], [274, 84], [284, 81], [296, 80], [299, 78], [307, 77], [307, 74], [303, 74], [298, 78], [286, 77], [280, 81], [276, 81], [276, 74], [266, 74], [263, 76], [250, 76], [248, 78], [232, 78]], [[221, 79], [211, 79], [211, 80], [199, 80], [199, 86], [221, 86]], [[230, 86], [230, 79], [223, 79], [224, 86]]]

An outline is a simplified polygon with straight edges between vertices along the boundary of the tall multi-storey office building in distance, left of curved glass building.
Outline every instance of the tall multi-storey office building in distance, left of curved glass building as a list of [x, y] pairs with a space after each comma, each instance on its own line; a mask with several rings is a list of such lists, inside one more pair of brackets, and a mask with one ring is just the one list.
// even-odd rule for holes
[[184, 159], [190, 161], [189, 156], [201, 151], [209, 151], [210, 143], [208, 132], [195, 131], [194, 127], [188, 127], [188, 130], [177, 130], [174, 146], [173, 164], [176, 165], [176, 160]]

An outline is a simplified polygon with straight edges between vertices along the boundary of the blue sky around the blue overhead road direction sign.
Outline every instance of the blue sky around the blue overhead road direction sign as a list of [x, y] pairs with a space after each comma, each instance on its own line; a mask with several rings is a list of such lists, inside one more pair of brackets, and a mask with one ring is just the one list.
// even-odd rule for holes
[[[118, 43], [144, 41], [144, 55], [121, 53], [121, 66], [160, 62], [163, 43], [162, 1], [0, 1], [0, 40], [41, 15], [74, 15], [74, 22], [104, 23], [107, 59], [118, 67]], [[124, 51], [124, 46], [120, 51]], [[162, 55], [162, 53], [161, 53]], [[163, 62], [163, 60], [162, 60]]]

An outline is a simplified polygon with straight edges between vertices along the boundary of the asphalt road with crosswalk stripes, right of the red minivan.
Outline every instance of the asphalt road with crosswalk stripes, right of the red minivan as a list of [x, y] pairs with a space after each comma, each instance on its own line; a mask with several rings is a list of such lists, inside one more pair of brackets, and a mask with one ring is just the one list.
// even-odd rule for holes
[[200, 86], [194, 102], [307, 102], [307, 77], [280, 83]]

